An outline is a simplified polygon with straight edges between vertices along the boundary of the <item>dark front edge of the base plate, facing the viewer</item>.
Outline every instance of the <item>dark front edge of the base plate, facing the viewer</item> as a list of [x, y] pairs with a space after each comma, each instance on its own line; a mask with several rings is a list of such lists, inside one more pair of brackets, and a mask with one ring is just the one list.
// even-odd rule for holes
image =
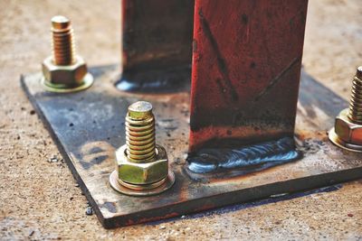
[[[186, 201], [187, 205], [183, 202], [184, 205], [173, 204], [162, 209], [148, 209], [131, 215], [105, 218], [103, 227], [125, 227], [165, 218], [175, 218], [186, 214], [204, 211], [206, 209], [216, 209], [237, 203], [250, 202], [257, 199], [266, 199], [270, 198], [271, 195], [281, 193], [288, 193], [288, 195], [291, 195], [291, 193], [295, 192], [313, 190], [341, 182], [354, 181], [360, 178], [362, 178], [362, 167], [308, 176], [291, 181], [274, 182], [254, 188], [224, 192], [213, 197], [193, 199]], [[278, 189], [275, 188], [276, 183], [278, 183]], [[256, 189], [258, 190], [255, 191]], [[265, 194], [260, 196], [260, 193]]]

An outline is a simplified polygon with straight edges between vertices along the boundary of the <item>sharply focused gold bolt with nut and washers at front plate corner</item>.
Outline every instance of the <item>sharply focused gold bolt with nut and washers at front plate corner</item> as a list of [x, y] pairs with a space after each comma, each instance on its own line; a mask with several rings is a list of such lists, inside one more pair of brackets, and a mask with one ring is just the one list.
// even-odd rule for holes
[[152, 105], [138, 101], [126, 116], [126, 144], [116, 151], [117, 169], [110, 174], [113, 189], [131, 196], [155, 195], [172, 187], [165, 149], [156, 144]]

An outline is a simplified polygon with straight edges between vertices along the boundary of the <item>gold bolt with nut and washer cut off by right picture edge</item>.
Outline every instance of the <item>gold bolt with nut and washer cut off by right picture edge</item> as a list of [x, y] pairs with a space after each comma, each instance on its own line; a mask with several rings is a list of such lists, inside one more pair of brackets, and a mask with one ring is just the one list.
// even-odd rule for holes
[[335, 126], [329, 131], [329, 140], [339, 147], [362, 152], [362, 66], [353, 79], [349, 108], [336, 117]]

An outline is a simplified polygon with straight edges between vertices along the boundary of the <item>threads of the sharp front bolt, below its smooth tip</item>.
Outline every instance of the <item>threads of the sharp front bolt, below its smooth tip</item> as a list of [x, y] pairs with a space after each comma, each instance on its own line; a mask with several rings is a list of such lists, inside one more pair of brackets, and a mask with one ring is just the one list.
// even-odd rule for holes
[[127, 155], [131, 162], [152, 162], [156, 155], [155, 118], [126, 116]]

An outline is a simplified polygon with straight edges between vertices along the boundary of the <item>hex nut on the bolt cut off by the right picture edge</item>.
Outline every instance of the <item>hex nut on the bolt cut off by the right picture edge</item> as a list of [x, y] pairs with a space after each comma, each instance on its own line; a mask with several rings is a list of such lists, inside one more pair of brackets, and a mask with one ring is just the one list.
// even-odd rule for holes
[[348, 118], [348, 109], [342, 110], [336, 117], [335, 132], [348, 144], [362, 144], [362, 125], [352, 123]]

